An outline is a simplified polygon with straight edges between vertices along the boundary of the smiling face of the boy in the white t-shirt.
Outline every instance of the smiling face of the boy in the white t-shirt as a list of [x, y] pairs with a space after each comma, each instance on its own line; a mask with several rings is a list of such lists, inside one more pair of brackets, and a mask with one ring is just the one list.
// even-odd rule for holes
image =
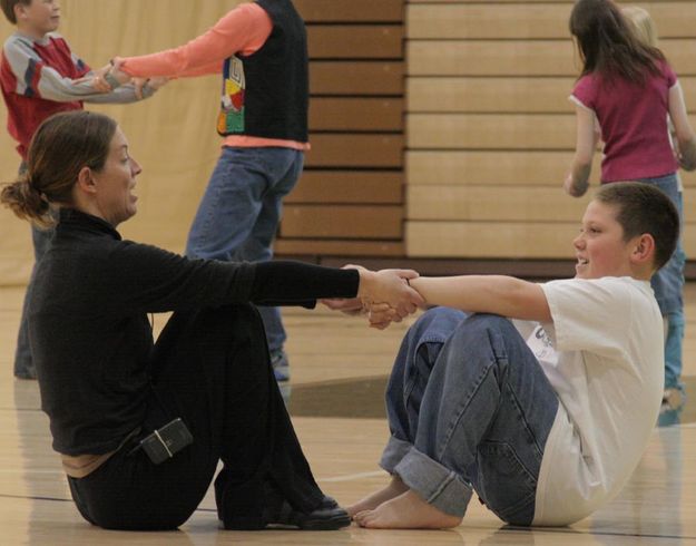
[[624, 227], [616, 220], [617, 209], [598, 201], [587, 205], [576, 250], [577, 279], [631, 276], [630, 256], [636, 241], [624, 241]]

